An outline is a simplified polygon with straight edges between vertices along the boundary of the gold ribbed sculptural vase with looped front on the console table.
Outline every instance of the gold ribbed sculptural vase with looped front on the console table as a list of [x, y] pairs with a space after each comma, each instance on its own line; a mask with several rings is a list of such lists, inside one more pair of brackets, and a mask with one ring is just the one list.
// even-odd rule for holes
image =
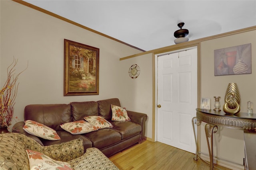
[[228, 84], [223, 111], [231, 115], [234, 115], [240, 111], [240, 93], [236, 83]]

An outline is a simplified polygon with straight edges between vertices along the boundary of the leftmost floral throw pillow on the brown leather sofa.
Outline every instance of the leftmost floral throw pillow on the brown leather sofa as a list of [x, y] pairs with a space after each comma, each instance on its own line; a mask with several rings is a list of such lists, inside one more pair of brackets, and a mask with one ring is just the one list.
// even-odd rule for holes
[[26, 120], [23, 129], [29, 134], [43, 139], [51, 141], [60, 140], [59, 135], [54, 129], [33, 120]]

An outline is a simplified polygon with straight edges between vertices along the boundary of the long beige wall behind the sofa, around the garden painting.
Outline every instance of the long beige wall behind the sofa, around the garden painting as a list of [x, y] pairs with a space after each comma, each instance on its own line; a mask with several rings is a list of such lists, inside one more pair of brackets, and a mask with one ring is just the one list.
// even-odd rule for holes
[[[14, 117], [23, 121], [24, 107], [28, 104], [68, 104], [119, 98], [126, 106], [126, 97], [121, 96], [125, 87], [119, 84], [119, 78], [123, 76], [119, 72], [119, 58], [141, 51], [14, 1], [1, 0], [0, 4], [0, 86], [6, 81], [6, 69], [13, 57], [18, 59], [17, 73], [26, 68], [28, 62], [27, 70], [18, 78]], [[100, 49], [99, 95], [63, 96], [64, 39]], [[128, 77], [127, 72], [128, 68]], [[13, 125], [15, 120], [12, 122]]]

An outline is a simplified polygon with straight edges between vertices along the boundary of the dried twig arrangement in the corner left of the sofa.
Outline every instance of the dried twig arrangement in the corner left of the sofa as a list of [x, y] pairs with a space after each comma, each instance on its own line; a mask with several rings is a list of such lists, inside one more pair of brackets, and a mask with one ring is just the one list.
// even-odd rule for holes
[[13, 58], [12, 64], [7, 68], [7, 80], [0, 91], [0, 127], [9, 126], [12, 122], [12, 117], [14, 113], [14, 100], [18, 92], [17, 80], [19, 75], [24, 72], [27, 67], [15, 75], [15, 66], [18, 63], [18, 59]]

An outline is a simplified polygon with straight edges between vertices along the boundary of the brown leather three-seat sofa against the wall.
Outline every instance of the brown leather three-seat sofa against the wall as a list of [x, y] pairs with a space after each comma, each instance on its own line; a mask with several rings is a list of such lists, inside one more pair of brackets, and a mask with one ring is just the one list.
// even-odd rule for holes
[[[28, 105], [24, 109], [24, 120], [37, 121], [56, 130], [60, 140], [50, 141], [30, 135], [22, 129], [25, 125], [24, 121], [17, 122], [12, 132], [22, 133], [31, 137], [42, 146], [63, 143], [81, 137], [85, 151], [87, 148], [95, 147], [100, 149], [106, 156], [111, 156], [144, 140], [145, 121], [147, 119], [147, 115], [144, 113], [127, 110], [131, 121], [112, 121], [111, 104], [121, 106], [118, 98], [99, 100], [97, 102]], [[63, 123], [84, 120], [84, 117], [89, 115], [100, 115], [114, 127], [80, 135], [72, 135], [60, 127]]]

